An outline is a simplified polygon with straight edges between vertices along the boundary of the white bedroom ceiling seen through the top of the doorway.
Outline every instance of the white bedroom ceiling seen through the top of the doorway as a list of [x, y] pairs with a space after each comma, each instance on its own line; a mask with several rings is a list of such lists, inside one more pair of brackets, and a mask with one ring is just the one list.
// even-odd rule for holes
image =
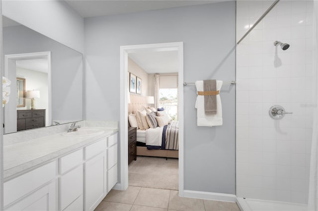
[[140, 52], [128, 55], [147, 73], [178, 72], [178, 52]]

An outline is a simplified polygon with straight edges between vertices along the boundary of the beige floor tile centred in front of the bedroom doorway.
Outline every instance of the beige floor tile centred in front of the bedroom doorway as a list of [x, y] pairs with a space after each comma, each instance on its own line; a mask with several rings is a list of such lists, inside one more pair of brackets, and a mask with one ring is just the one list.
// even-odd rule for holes
[[134, 205], [168, 208], [169, 190], [141, 188]]

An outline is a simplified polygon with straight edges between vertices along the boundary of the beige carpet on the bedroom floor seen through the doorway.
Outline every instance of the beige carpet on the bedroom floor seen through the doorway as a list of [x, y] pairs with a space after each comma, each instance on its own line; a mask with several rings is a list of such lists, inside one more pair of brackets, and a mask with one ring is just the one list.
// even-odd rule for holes
[[138, 156], [128, 166], [129, 186], [178, 190], [178, 159]]

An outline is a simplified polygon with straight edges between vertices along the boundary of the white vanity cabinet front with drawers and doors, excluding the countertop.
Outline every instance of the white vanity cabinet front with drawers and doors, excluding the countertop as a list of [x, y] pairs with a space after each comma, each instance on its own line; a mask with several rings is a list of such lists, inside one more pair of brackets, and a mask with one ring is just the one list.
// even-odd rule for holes
[[117, 132], [3, 185], [5, 211], [94, 210], [117, 183]]

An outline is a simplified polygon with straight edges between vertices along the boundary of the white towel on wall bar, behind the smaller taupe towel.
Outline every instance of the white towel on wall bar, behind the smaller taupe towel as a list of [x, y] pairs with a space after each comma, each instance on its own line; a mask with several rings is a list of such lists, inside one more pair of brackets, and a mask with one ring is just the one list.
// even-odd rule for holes
[[[217, 90], [221, 90], [223, 81], [217, 81]], [[196, 81], [195, 86], [197, 91], [204, 91], [203, 81]], [[222, 118], [222, 104], [220, 94], [217, 95], [217, 113], [206, 115], [204, 111], [204, 96], [198, 95], [195, 102], [195, 108], [197, 108], [197, 124], [198, 126], [217, 126], [223, 124]]]

